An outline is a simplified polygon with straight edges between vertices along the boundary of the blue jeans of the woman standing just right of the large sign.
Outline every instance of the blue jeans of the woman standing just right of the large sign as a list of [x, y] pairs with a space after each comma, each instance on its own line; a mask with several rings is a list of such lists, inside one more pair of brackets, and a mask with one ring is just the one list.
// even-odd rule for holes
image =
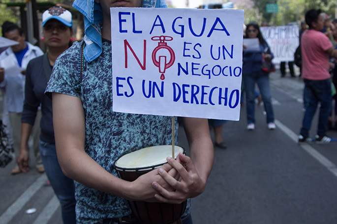
[[267, 113], [267, 123], [274, 122], [272, 96], [269, 86], [269, 74], [263, 71], [243, 75], [247, 104], [247, 123], [255, 124], [255, 83], [259, 87], [263, 104]]

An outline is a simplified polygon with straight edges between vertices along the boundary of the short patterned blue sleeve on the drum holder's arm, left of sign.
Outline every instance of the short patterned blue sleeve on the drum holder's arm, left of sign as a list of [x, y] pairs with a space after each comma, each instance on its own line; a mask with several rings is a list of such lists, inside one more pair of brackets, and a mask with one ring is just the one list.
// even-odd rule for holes
[[51, 93], [61, 93], [80, 97], [75, 87], [81, 84], [79, 70], [81, 60], [81, 43], [75, 42], [65, 50], [55, 61], [53, 73], [50, 76], [45, 94], [51, 98]]

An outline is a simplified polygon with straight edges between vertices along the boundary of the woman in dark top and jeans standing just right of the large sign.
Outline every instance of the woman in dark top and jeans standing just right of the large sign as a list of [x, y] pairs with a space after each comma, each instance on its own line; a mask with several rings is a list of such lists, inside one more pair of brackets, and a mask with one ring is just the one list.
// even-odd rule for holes
[[[245, 30], [245, 38], [257, 38], [258, 50], [248, 50], [244, 45], [242, 74], [245, 83], [247, 103], [247, 129], [255, 129], [255, 83], [257, 83], [264, 107], [267, 113], [267, 124], [270, 130], [276, 128], [274, 123], [274, 111], [269, 85], [269, 73], [261, 70], [262, 59], [272, 60], [274, 55], [260, 32], [259, 25], [255, 22], [249, 23]], [[247, 50], [245, 50], [247, 49]]]

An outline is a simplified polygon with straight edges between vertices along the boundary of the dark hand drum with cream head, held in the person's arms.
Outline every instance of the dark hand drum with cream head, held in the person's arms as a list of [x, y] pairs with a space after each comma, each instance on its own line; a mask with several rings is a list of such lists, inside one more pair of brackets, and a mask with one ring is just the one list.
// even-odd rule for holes
[[[184, 149], [175, 146], [175, 157]], [[172, 146], [153, 146], [128, 153], [115, 163], [120, 178], [134, 181], [163, 164], [172, 157]], [[186, 208], [186, 201], [181, 204], [159, 202], [129, 201], [131, 211], [143, 224], [170, 224], [180, 219]]]

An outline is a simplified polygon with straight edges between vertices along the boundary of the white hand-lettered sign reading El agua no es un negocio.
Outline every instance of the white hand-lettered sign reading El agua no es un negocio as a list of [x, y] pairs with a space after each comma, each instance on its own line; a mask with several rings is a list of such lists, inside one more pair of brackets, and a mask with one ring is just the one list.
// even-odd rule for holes
[[114, 111], [239, 120], [243, 10], [110, 10]]

